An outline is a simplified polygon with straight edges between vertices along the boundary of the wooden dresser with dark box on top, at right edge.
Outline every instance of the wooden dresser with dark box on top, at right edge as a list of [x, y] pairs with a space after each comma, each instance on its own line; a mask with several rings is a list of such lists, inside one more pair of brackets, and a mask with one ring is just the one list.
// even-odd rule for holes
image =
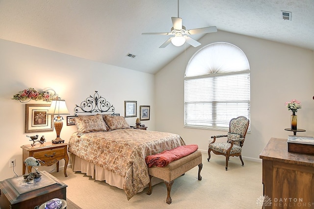
[[314, 209], [314, 156], [288, 152], [271, 138], [262, 153], [263, 208]]

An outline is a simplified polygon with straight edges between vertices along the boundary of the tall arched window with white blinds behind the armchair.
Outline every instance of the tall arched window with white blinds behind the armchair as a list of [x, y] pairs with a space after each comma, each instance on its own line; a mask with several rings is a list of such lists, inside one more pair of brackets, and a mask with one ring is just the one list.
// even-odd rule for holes
[[185, 70], [184, 126], [225, 130], [237, 116], [250, 119], [247, 57], [230, 43], [204, 46]]

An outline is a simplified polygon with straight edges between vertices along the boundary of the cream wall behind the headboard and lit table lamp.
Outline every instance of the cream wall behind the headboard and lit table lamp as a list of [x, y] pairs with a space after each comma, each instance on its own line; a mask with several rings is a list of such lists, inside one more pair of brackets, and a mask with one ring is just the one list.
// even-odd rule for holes
[[[154, 75], [139, 71], [118, 68], [88, 61], [85, 59], [26, 46], [0, 39], [0, 181], [14, 176], [9, 160], [16, 159], [15, 172], [22, 175], [22, 149], [30, 144], [26, 135], [45, 135], [46, 140], [55, 139], [56, 133], [24, 133], [25, 104], [12, 100], [13, 95], [32, 87], [43, 90], [50, 87], [66, 100], [67, 107], [74, 115], [76, 104], [80, 104], [95, 91], [105, 97], [114, 107], [115, 112], [124, 116], [124, 101], [137, 101], [139, 105], [151, 106], [151, 120], [144, 121], [148, 130], [155, 129]], [[30, 104], [45, 103], [30, 101]], [[47, 103], [45, 103], [47, 104]], [[49, 104], [49, 103], [48, 103]], [[130, 125], [136, 117], [127, 118]], [[61, 138], [68, 142], [75, 126], [63, 123]], [[60, 166], [64, 163], [61, 161]], [[51, 167], [41, 167], [51, 171]]]

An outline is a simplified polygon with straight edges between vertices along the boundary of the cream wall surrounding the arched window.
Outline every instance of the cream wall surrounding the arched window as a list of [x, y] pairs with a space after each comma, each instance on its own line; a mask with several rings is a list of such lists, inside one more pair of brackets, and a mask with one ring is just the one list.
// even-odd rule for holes
[[306, 130], [297, 135], [314, 136], [312, 50], [223, 31], [207, 34], [200, 42], [201, 46], [189, 47], [155, 75], [157, 131], [180, 134], [187, 144], [198, 144], [201, 150], [208, 150], [210, 136], [226, 134], [183, 127], [183, 79], [185, 66], [198, 49], [229, 42], [244, 51], [251, 69], [251, 133], [246, 136], [242, 156], [259, 159], [270, 138], [287, 139], [293, 134], [284, 129], [290, 127], [291, 115], [285, 102], [294, 98], [302, 104], [297, 112], [298, 128]]

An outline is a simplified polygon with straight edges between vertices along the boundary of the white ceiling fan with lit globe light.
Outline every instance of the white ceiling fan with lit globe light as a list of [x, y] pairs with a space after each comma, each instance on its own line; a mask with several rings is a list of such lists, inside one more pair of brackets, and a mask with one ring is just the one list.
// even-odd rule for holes
[[142, 35], [169, 35], [171, 36], [165, 43], [163, 43], [159, 48], [164, 48], [172, 43], [174, 46], [182, 46], [185, 42], [191, 46], [197, 47], [200, 46], [201, 43], [192, 39], [188, 35], [201, 34], [201, 33], [212, 33], [217, 32], [216, 26], [211, 27], [202, 27], [186, 30], [186, 28], [182, 25], [182, 18], [179, 18], [179, 0], [178, 0], [178, 17], [171, 17], [173, 27], [171, 28], [171, 32], [163, 32], [163, 33], [142, 33]]

